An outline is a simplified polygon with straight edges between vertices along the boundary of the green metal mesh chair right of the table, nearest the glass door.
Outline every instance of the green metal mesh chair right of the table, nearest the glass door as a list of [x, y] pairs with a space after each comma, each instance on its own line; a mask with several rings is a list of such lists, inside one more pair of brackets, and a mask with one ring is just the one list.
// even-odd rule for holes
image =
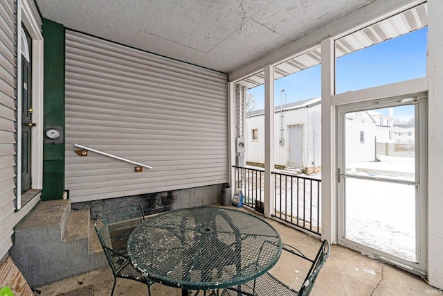
[[318, 272], [323, 268], [327, 259], [329, 258], [330, 252], [329, 241], [325, 240], [318, 250], [317, 256], [314, 260], [309, 259], [307, 256], [302, 254], [295, 247], [283, 244], [282, 250], [285, 250], [291, 254], [301, 257], [312, 263], [305, 281], [303, 281], [300, 290], [295, 290], [286, 284], [282, 283], [279, 279], [271, 275], [271, 273], [266, 272], [261, 277], [253, 281], [248, 281], [246, 284], [239, 286], [234, 286], [226, 288], [224, 290], [224, 295], [248, 295], [248, 296], [294, 296], [300, 295], [305, 296], [311, 293], [312, 288], [314, 288], [314, 283], [317, 279]]

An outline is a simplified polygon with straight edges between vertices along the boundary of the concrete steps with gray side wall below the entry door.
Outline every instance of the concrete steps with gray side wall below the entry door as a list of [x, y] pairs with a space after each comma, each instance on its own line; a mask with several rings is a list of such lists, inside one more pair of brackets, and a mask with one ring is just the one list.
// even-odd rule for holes
[[15, 230], [10, 257], [31, 287], [44, 286], [109, 266], [101, 246], [90, 252], [89, 238], [89, 209], [71, 211], [69, 200], [43, 201]]

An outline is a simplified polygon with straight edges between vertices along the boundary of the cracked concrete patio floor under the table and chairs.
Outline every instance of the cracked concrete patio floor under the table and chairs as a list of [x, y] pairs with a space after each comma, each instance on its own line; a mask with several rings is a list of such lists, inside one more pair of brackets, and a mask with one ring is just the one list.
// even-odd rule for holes
[[[246, 209], [242, 209], [245, 210]], [[275, 220], [264, 218], [282, 237], [283, 243], [298, 247], [305, 255], [314, 258], [320, 240], [283, 225]], [[300, 288], [302, 280], [309, 270], [309, 264], [282, 254], [271, 273], [282, 279], [286, 284]], [[110, 268], [102, 268], [87, 272], [53, 284], [38, 287], [40, 295], [60, 295], [80, 288], [89, 287], [94, 296], [110, 295], [114, 277]], [[86, 290], [86, 289], [85, 289]], [[181, 290], [160, 284], [151, 287], [152, 296], [180, 296]], [[80, 290], [78, 294], [84, 295]], [[381, 261], [347, 249], [340, 245], [332, 245], [329, 260], [320, 271], [311, 295], [429, 295], [442, 294], [442, 291], [426, 284], [424, 279]], [[38, 294], [37, 294], [38, 295]], [[114, 295], [147, 295], [143, 284], [129, 279], [117, 279]], [[200, 293], [199, 295], [202, 295]], [[278, 295], [275, 295], [278, 296]]]

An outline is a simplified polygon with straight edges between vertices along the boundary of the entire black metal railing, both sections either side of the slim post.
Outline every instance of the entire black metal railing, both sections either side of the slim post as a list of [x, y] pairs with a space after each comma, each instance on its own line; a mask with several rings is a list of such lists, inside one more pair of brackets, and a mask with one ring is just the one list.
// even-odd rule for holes
[[[264, 212], [264, 170], [235, 168], [234, 189], [241, 188], [243, 204]], [[274, 209], [272, 216], [314, 234], [321, 233], [321, 180], [273, 172]]]

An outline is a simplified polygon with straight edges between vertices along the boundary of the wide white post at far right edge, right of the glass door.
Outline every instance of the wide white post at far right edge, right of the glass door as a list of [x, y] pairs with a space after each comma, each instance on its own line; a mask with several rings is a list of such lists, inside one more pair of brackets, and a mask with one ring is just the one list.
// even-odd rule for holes
[[428, 281], [443, 289], [443, 6], [428, 1]]

